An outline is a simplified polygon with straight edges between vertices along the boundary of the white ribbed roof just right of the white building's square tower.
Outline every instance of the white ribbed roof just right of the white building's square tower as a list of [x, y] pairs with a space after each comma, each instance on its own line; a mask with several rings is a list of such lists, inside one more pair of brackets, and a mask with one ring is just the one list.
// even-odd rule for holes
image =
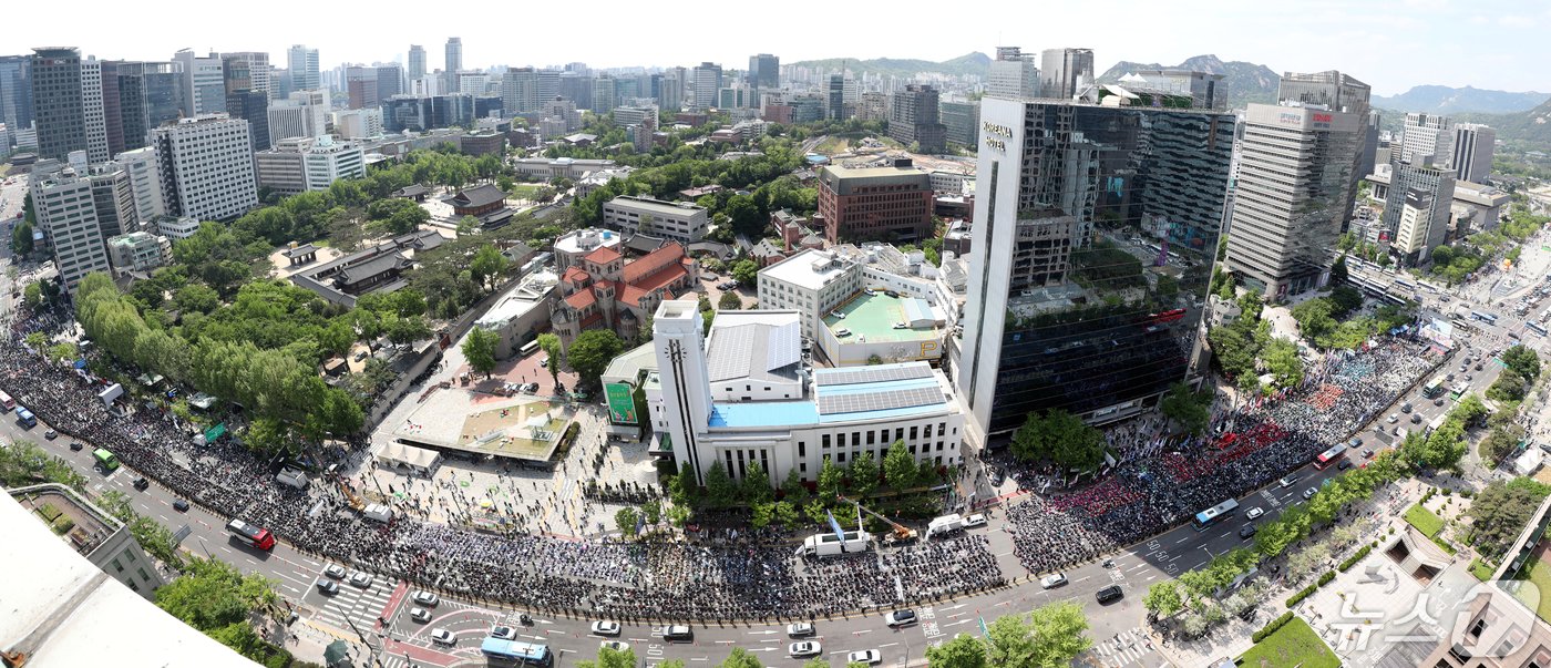
[[720, 312], [706, 336], [712, 383], [796, 381], [802, 363], [802, 315], [794, 310]]

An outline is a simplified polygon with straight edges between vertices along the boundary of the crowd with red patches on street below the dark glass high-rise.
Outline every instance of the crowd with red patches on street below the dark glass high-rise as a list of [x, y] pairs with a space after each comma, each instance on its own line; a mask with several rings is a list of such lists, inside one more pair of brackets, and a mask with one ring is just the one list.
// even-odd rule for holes
[[1297, 387], [1218, 406], [1204, 437], [1168, 439], [1163, 420], [1134, 422], [1111, 436], [1131, 463], [1073, 491], [1062, 490], [1055, 471], [1025, 467], [1014, 477], [1031, 494], [1008, 508], [1014, 553], [1030, 572], [1052, 572], [1187, 522], [1345, 442], [1436, 360], [1424, 344], [1387, 338], [1331, 353]]

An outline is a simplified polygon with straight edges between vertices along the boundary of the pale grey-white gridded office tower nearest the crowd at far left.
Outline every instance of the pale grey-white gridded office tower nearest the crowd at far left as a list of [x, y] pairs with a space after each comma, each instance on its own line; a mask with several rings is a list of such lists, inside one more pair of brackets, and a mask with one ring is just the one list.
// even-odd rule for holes
[[54, 265], [74, 293], [81, 279], [92, 271], [109, 271], [102, 228], [98, 225], [92, 180], [57, 161], [42, 161], [33, 174], [33, 211], [48, 245]]

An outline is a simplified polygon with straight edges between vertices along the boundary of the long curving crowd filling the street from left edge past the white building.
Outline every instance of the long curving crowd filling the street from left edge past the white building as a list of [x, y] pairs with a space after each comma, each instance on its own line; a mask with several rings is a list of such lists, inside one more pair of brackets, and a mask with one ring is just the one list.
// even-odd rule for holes
[[501, 536], [403, 516], [363, 521], [332, 485], [281, 485], [270, 465], [240, 445], [195, 445], [186, 426], [155, 409], [109, 411], [98, 398], [99, 378], [23, 343], [28, 332], [67, 327], [74, 324], [22, 321], [0, 346], [0, 389], [65, 437], [107, 448], [177, 493], [357, 567], [485, 600], [634, 618], [810, 617], [1003, 584], [977, 535], [827, 561], [796, 556], [791, 542], [760, 535], [715, 546], [644, 544]]

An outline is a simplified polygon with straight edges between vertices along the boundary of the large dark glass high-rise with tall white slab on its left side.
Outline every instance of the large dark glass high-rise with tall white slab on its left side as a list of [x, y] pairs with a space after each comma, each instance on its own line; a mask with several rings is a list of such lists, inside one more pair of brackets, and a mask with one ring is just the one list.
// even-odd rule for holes
[[1120, 420], [1185, 380], [1233, 130], [1208, 108], [980, 101], [965, 333], [949, 344], [980, 434], [1052, 408]]

